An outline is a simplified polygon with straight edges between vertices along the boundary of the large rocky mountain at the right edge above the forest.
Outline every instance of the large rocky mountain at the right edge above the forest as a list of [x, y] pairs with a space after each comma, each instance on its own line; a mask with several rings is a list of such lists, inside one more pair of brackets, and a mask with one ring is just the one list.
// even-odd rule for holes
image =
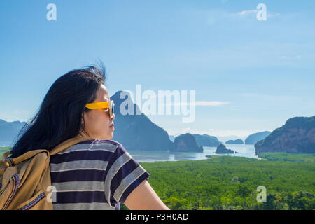
[[315, 116], [295, 117], [255, 144], [261, 152], [315, 153]]

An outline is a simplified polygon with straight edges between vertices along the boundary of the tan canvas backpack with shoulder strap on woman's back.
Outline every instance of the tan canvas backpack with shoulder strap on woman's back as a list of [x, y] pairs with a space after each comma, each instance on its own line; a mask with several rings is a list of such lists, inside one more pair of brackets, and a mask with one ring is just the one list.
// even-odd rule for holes
[[50, 155], [79, 143], [94, 140], [74, 137], [52, 148], [36, 149], [17, 158], [8, 158], [10, 151], [0, 161], [0, 210], [52, 210]]

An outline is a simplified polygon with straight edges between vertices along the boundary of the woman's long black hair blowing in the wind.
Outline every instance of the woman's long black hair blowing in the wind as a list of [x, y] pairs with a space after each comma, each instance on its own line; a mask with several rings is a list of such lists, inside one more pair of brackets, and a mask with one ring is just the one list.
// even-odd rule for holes
[[105, 80], [106, 69], [102, 63], [74, 69], [55, 80], [38, 113], [20, 130], [11, 157], [34, 149], [50, 151], [62, 141], [84, 132], [83, 112], [90, 111], [85, 104], [96, 99], [97, 90], [105, 85]]

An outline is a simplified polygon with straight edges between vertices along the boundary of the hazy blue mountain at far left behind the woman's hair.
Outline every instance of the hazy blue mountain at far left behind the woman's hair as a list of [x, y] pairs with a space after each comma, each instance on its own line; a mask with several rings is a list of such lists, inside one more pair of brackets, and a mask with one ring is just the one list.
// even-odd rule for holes
[[13, 141], [18, 137], [18, 134], [26, 122], [13, 121], [7, 122], [0, 119], [0, 146], [12, 146]]

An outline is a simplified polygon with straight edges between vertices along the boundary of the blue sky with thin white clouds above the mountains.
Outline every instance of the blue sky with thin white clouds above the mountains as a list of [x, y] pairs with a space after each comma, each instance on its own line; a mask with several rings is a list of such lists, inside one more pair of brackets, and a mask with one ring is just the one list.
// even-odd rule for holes
[[193, 123], [149, 116], [169, 134], [272, 131], [314, 116], [314, 11], [314, 1], [2, 0], [0, 118], [29, 120], [59, 76], [102, 59], [111, 94], [141, 84], [225, 102], [196, 106]]

